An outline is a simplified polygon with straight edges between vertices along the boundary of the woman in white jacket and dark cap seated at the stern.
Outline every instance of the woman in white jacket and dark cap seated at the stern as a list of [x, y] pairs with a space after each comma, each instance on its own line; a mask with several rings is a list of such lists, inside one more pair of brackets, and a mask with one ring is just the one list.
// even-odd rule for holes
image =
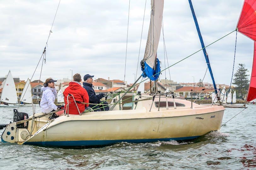
[[57, 80], [46, 79], [44, 86], [41, 88], [43, 90], [43, 95], [40, 102], [40, 109], [43, 113], [52, 112], [59, 110], [60, 108], [54, 104], [55, 98], [57, 97], [57, 90], [55, 89], [55, 84]]

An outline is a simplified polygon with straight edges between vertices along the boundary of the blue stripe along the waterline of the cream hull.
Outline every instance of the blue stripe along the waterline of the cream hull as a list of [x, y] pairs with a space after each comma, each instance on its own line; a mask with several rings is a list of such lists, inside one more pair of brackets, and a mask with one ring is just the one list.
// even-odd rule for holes
[[76, 140], [76, 141], [42, 141], [42, 142], [25, 142], [24, 145], [43, 145], [43, 146], [99, 146], [110, 145], [118, 142], [128, 143], [147, 143], [156, 141], [169, 140], [191, 140], [199, 136], [189, 136], [181, 138], [163, 138], [163, 139], [128, 139], [128, 140]]

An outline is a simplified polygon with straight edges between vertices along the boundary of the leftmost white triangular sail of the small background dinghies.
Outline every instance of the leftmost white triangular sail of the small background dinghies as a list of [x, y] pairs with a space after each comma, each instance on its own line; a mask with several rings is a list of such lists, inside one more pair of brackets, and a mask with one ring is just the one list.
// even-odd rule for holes
[[18, 103], [17, 92], [15, 88], [15, 83], [11, 71], [7, 75], [5, 83], [3, 85], [2, 95], [0, 101], [6, 103]]

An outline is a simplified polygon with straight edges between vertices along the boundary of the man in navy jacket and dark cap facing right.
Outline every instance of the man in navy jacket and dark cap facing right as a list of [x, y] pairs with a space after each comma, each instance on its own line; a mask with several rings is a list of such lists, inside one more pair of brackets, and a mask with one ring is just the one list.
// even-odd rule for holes
[[[83, 80], [84, 80], [83, 88], [85, 88], [85, 90], [88, 93], [89, 103], [98, 104], [98, 103], [101, 103], [100, 99], [102, 97], [104, 97], [105, 94], [104, 93], [100, 93], [100, 94], [96, 95], [96, 93], [95, 93], [95, 91], [93, 89], [93, 87], [94, 87], [93, 86], [93, 77], [94, 77], [94, 75], [89, 75], [89, 74], [84, 75], [84, 77], [83, 77]], [[99, 108], [100, 107], [99, 105], [98, 106], [96, 106], [96, 105], [89, 105], [89, 107], [91, 107], [94, 110], [94, 112], [102, 111]]]

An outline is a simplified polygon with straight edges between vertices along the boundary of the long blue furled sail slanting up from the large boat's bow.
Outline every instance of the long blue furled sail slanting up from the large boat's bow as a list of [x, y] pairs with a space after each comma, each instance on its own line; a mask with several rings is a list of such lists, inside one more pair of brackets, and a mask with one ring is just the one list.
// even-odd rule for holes
[[214, 78], [213, 78], [212, 68], [211, 68], [211, 65], [210, 65], [208, 54], [206, 52], [206, 49], [205, 49], [205, 46], [204, 46], [204, 43], [203, 43], [203, 38], [202, 38], [200, 29], [199, 29], [199, 25], [198, 25], [198, 22], [197, 22], [197, 19], [196, 19], [196, 14], [195, 14], [195, 11], [194, 11], [194, 8], [193, 8], [191, 0], [188, 0], [188, 2], [189, 2], [190, 9], [191, 9], [194, 21], [195, 21], [196, 30], [197, 30], [197, 33], [198, 33], [198, 36], [199, 36], [199, 39], [200, 39], [200, 42], [201, 42], [202, 49], [203, 49], [203, 54], [204, 54], [204, 57], [205, 57], [205, 60], [206, 60], [209, 72], [210, 72], [212, 80], [213, 80], [213, 87], [214, 87], [214, 90], [215, 90], [215, 94], [217, 94], [217, 88], [216, 88], [216, 84], [215, 84], [215, 81], [214, 81]]

